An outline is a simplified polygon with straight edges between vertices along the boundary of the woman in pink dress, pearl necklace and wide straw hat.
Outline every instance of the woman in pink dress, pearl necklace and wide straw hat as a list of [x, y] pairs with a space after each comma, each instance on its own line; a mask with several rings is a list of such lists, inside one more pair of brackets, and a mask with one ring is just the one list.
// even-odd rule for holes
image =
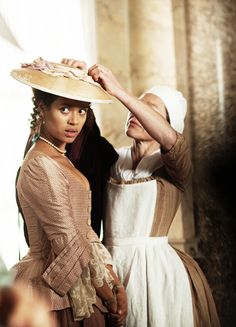
[[17, 180], [30, 248], [12, 268], [15, 280], [47, 301], [58, 326], [105, 326], [105, 312], [120, 326], [125, 291], [91, 227], [89, 182], [65, 156], [89, 124], [90, 103], [111, 99], [86, 72], [42, 58], [11, 75], [33, 88], [34, 103], [34, 144]]

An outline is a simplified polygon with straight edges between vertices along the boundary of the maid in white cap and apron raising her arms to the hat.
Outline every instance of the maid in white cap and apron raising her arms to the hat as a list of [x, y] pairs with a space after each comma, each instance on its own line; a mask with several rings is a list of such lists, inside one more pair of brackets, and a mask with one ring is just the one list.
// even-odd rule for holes
[[133, 144], [117, 150], [104, 217], [104, 244], [128, 297], [125, 326], [220, 326], [203, 272], [167, 238], [191, 180], [182, 134], [186, 100], [167, 86], [155, 86], [138, 99], [106, 67], [96, 64], [88, 73], [129, 111], [126, 134]]

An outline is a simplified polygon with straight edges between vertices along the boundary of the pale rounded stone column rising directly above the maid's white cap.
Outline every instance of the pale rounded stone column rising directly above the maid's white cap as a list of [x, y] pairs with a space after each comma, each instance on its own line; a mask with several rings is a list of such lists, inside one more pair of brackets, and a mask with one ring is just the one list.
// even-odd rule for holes
[[129, 0], [132, 90], [155, 84], [176, 86], [171, 0]]

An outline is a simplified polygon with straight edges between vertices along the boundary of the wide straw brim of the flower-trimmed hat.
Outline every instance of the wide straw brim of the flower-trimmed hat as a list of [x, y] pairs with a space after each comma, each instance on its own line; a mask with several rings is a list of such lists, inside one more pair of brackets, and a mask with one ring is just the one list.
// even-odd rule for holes
[[109, 94], [98, 83], [52, 76], [29, 68], [14, 69], [11, 71], [11, 76], [32, 88], [64, 98], [92, 103], [112, 102]]

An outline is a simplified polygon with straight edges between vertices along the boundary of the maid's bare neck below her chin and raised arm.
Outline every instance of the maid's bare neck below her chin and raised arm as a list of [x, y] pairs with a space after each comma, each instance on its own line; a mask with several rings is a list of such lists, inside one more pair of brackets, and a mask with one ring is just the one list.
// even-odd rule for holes
[[151, 155], [160, 149], [156, 141], [133, 141], [131, 146], [132, 169], [135, 170], [143, 157]]

